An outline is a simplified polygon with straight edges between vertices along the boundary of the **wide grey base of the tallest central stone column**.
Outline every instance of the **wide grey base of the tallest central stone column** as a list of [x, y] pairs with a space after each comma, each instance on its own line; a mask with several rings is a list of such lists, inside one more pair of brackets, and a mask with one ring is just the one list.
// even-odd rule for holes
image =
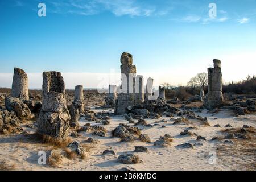
[[115, 114], [121, 115], [127, 113], [127, 107], [133, 106], [134, 94], [121, 93], [115, 101]]

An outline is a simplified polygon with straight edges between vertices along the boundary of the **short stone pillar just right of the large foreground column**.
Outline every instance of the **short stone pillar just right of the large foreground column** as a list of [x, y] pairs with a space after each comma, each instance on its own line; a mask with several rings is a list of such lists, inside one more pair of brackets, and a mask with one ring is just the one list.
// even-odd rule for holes
[[73, 106], [79, 110], [80, 114], [84, 113], [84, 87], [82, 85], [77, 85], [75, 88]]

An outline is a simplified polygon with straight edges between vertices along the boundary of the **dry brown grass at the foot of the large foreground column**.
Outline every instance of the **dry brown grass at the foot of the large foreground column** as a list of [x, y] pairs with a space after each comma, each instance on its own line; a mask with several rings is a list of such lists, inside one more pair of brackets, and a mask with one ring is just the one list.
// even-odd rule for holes
[[65, 147], [72, 142], [71, 138], [67, 138], [63, 140], [63, 139], [51, 137], [45, 134], [40, 134], [38, 132], [28, 135], [28, 137], [32, 140], [35, 140], [36, 142], [40, 142], [43, 144], [48, 144], [50, 146], [56, 146], [56, 147]]

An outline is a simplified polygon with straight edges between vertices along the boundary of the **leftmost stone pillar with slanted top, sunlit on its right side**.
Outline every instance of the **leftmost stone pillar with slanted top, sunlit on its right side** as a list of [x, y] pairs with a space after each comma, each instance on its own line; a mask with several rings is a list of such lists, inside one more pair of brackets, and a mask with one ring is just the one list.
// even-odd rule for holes
[[22, 102], [29, 100], [28, 77], [23, 69], [14, 68], [13, 85], [11, 86], [11, 97], [19, 98]]

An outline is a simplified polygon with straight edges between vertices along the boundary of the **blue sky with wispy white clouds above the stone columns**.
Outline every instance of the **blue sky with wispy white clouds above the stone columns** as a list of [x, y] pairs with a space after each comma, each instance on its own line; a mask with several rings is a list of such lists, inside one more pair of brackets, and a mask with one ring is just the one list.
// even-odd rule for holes
[[[40, 2], [46, 17], [38, 16]], [[185, 84], [214, 58], [222, 60], [226, 81], [242, 80], [255, 73], [255, 20], [256, 0], [3, 0], [0, 73], [120, 72], [126, 51], [138, 72], [162, 73], [162, 82]]]

